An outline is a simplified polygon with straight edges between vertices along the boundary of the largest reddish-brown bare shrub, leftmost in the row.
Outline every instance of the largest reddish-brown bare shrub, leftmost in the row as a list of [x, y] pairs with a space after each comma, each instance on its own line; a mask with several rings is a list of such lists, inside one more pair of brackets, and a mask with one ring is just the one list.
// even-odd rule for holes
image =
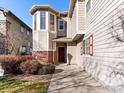
[[32, 56], [3, 55], [0, 56], [0, 63], [5, 74], [21, 74], [20, 64], [27, 60], [33, 60]]

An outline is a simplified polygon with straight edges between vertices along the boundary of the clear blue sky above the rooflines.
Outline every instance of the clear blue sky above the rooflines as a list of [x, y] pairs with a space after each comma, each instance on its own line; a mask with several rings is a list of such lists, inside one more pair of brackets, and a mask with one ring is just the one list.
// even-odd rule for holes
[[60, 12], [68, 11], [70, 0], [0, 0], [0, 7], [6, 8], [32, 28], [32, 16], [29, 13], [35, 4], [47, 4]]

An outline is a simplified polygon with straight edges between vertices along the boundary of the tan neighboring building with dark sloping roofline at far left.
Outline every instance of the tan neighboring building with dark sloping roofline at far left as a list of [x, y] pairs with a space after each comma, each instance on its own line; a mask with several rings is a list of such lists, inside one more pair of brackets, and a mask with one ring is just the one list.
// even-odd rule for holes
[[32, 29], [0, 7], [0, 54], [31, 53]]

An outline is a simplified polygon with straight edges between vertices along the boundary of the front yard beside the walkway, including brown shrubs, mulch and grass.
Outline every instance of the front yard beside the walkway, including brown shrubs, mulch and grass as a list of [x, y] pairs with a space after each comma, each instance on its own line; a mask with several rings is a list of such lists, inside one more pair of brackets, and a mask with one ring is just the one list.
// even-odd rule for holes
[[32, 56], [0, 56], [0, 93], [47, 93], [55, 65], [41, 63]]

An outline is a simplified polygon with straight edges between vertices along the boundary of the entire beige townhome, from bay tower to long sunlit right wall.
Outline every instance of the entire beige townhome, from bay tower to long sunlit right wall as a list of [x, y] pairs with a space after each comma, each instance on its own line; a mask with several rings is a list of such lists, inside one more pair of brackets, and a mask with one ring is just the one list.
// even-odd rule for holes
[[71, 0], [67, 14], [47, 5], [30, 12], [35, 56], [77, 64], [113, 93], [124, 93], [124, 0]]

